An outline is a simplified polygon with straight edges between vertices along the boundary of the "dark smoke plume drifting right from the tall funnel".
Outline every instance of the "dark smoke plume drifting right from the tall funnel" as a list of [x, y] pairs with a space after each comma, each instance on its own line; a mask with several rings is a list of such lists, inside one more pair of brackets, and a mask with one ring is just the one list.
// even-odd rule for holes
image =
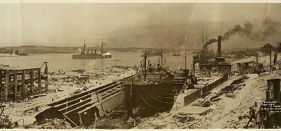
[[[228, 32], [224, 33], [224, 35], [221, 37], [221, 40], [228, 40], [230, 37], [236, 34], [240, 35], [240, 37], [247, 37], [254, 42], [264, 40], [270, 35], [275, 35], [275, 33], [277, 32], [276, 28], [279, 26], [280, 23], [277, 23], [270, 18], [266, 18], [266, 20], [263, 20], [263, 30], [258, 31], [253, 31], [254, 26], [250, 22], [244, 23], [244, 27], [242, 27], [241, 25], [234, 25], [233, 28], [228, 30]], [[218, 39], [209, 39], [206, 45], [212, 44], [214, 42], [218, 42]]]

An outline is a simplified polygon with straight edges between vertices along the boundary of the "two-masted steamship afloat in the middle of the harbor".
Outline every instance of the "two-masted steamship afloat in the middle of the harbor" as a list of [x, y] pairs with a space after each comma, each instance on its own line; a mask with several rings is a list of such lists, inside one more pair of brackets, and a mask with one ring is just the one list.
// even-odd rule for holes
[[85, 53], [85, 50], [86, 50], [86, 44], [85, 44], [85, 39], [84, 39], [83, 51], [81, 51], [81, 54], [72, 55], [72, 59], [111, 58], [112, 57], [110, 52], [103, 51], [103, 42], [101, 44], [100, 54], [96, 53], [96, 49], [95, 49], [94, 53], [93, 53], [93, 49], [91, 49], [91, 54], [89, 54], [89, 49], [88, 49], [87, 53]]

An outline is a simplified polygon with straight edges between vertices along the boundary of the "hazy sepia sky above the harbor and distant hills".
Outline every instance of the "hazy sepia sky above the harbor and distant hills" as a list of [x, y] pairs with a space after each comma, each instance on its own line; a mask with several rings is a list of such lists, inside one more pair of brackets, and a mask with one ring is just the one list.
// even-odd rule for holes
[[[0, 46], [223, 48], [281, 42], [279, 3], [6, 3]], [[229, 35], [230, 33], [230, 35]], [[216, 44], [211, 44], [216, 48]]]

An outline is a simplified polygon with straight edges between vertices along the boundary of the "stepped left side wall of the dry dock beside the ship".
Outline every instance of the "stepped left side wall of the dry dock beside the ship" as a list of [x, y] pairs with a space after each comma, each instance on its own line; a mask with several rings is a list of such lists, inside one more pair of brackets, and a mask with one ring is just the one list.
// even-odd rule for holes
[[[134, 77], [131, 75], [124, 78]], [[82, 92], [67, 99], [48, 104], [50, 108], [39, 113], [35, 118], [37, 121], [46, 118], [65, 118], [72, 127], [89, 125], [93, 123], [95, 117], [105, 116], [124, 102], [124, 89], [122, 82], [112, 82], [110, 84]]]

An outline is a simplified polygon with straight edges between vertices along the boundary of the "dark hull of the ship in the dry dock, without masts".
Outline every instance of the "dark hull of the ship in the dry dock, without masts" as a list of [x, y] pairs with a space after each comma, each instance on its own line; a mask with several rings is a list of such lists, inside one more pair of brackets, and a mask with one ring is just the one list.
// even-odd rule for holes
[[183, 84], [175, 85], [173, 79], [161, 83], [139, 80], [125, 82], [128, 115], [148, 117], [155, 113], [170, 111], [174, 105], [174, 96], [181, 91], [182, 87]]

